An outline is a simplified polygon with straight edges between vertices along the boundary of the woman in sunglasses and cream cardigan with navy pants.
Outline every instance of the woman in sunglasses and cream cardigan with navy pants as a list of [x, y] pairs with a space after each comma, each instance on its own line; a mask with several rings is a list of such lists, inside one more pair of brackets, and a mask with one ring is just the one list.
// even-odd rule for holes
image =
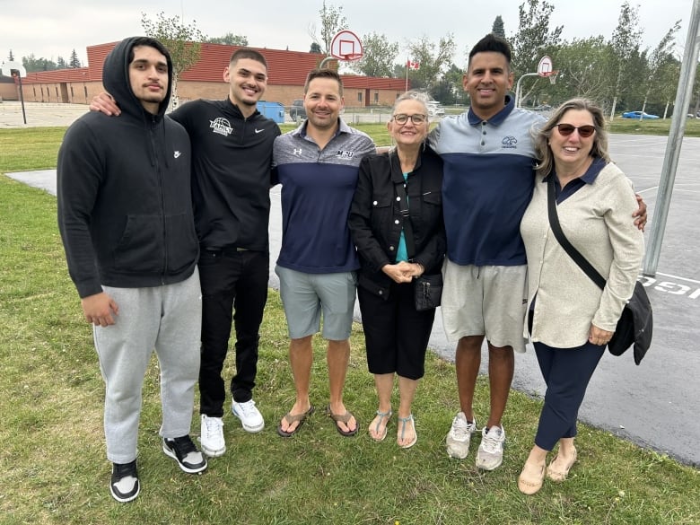
[[[577, 459], [576, 419], [591, 376], [632, 295], [643, 257], [643, 233], [632, 182], [610, 162], [601, 109], [566, 101], [535, 137], [537, 177], [521, 221], [528, 257], [525, 337], [535, 346], [547, 384], [535, 445], [518, 478], [535, 494], [545, 477], [564, 481]], [[549, 184], [566, 239], [607, 280], [600, 290], [557, 241], [547, 212]], [[547, 466], [547, 453], [559, 448]]]

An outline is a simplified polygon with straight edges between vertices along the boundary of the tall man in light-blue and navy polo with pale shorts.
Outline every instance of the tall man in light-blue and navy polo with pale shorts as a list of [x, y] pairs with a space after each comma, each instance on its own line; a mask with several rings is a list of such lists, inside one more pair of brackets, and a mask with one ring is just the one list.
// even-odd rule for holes
[[[524, 352], [527, 266], [520, 234], [534, 186], [531, 131], [544, 119], [515, 108], [511, 49], [493, 34], [469, 53], [464, 90], [469, 110], [443, 118], [429, 136], [444, 162], [442, 206], [447, 232], [442, 320], [458, 341], [455, 353], [460, 411], [447, 435], [447, 451], [464, 459], [477, 431], [474, 391], [481, 346], [488, 345], [490, 413], [482, 428], [477, 468], [503, 462], [501, 423], [514, 370], [514, 351]], [[637, 223], [645, 222], [645, 206]], [[642, 226], [640, 226], [642, 227]]]

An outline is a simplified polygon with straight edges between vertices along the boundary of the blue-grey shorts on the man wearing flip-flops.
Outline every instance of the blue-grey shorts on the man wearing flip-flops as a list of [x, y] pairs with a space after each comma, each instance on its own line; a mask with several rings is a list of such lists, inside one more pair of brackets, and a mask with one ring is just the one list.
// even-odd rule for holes
[[321, 312], [325, 339], [344, 341], [350, 337], [357, 291], [355, 272], [306, 274], [276, 266], [275, 273], [289, 337], [301, 339], [317, 333]]

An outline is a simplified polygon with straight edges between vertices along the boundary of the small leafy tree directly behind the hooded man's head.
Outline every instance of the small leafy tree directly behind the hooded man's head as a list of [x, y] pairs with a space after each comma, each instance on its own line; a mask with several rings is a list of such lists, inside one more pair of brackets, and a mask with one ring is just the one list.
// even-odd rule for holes
[[148, 37], [159, 40], [170, 51], [172, 59], [171, 105], [178, 100], [178, 78], [184, 71], [197, 64], [202, 51], [201, 42], [206, 38], [195, 23], [185, 25], [179, 16], [167, 18], [165, 13], [158, 13], [153, 22], [141, 13], [141, 25]]

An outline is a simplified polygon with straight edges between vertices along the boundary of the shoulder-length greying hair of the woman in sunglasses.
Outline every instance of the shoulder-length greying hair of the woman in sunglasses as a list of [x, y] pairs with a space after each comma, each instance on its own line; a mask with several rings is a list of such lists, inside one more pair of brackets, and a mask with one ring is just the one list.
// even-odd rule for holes
[[552, 116], [547, 120], [547, 123], [534, 134], [535, 155], [538, 162], [535, 166], [535, 171], [539, 175], [548, 175], [554, 170], [554, 155], [549, 147], [549, 138], [552, 136], [552, 130], [564, 117], [564, 113], [569, 109], [578, 109], [588, 111], [593, 118], [593, 126], [596, 128], [593, 135], [593, 147], [591, 148], [592, 157], [600, 157], [605, 162], [610, 161], [608, 154], [608, 131], [606, 129], [605, 114], [593, 101], [587, 99], [572, 99], [565, 101], [561, 106], [555, 109]]

